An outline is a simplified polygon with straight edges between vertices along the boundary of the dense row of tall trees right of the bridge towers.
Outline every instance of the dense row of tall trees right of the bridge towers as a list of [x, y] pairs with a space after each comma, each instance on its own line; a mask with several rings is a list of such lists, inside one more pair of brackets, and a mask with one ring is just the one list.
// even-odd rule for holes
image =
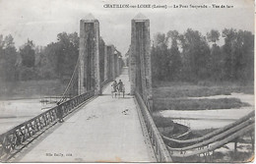
[[[224, 37], [224, 45], [217, 42]], [[250, 31], [212, 29], [203, 35], [157, 33], [152, 46], [153, 80], [172, 82], [253, 82], [254, 35]]]

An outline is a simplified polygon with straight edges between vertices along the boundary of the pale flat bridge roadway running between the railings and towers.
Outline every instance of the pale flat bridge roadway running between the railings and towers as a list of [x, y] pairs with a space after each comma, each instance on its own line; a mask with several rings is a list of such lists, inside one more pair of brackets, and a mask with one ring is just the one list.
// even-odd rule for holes
[[[130, 92], [127, 69], [119, 79]], [[110, 91], [108, 84], [101, 96], [33, 141], [13, 161], [155, 162], [142, 133], [134, 98], [112, 98]]]

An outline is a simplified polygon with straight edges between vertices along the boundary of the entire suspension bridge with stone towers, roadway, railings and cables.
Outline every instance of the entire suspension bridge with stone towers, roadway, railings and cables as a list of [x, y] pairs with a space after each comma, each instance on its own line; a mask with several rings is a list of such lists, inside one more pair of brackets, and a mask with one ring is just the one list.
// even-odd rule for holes
[[[59, 105], [2, 134], [2, 162], [212, 161], [216, 149], [254, 132], [253, 111], [204, 137], [161, 135], [152, 117], [150, 20], [139, 14], [131, 27], [127, 68], [100, 37], [99, 22], [92, 15], [81, 20], [79, 58]], [[126, 95], [113, 98], [111, 82], [119, 79]]]

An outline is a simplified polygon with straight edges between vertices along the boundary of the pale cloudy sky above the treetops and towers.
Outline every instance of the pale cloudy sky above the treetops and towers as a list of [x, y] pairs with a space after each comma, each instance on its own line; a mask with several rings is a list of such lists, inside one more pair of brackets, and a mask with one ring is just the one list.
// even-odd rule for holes
[[[166, 5], [167, 9], [104, 8], [105, 4]], [[173, 5], [226, 5], [233, 8], [173, 8]], [[142, 13], [151, 22], [151, 37], [157, 32], [187, 28], [202, 34], [211, 29], [250, 30], [254, 33], [253, 0], [0, 0], [0, 34], [12, 34], [17, 47], [32, 39], [35, 45], [57, 41], [57, 33], [79, 33], [80, 20], [93, 14], [100, 36], [125, 54], [130, 45], [131, 20]]]

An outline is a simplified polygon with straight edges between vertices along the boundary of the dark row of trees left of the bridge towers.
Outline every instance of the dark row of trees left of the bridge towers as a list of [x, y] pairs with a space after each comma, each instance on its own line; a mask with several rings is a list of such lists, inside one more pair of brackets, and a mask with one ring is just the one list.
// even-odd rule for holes
[[32, 40], [15, 47], [11, 34], [0, 34], [0, 81], [69, 80], [79, 55], [77, 32], [61, 32], [57, 41], [36, 46]]

